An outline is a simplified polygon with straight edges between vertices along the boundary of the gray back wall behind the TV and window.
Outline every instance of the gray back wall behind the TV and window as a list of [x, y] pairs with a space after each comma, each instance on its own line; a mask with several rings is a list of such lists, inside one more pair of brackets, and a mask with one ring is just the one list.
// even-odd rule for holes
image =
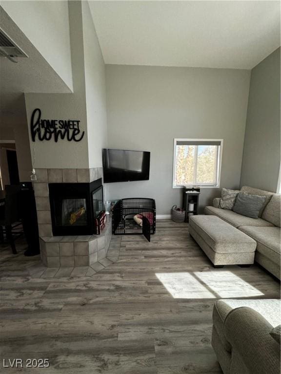
[[[106, 185], [106, 198], [181, 205], [172, 188], [174, 138], [223, 138], [221, 187], [240, 184], [250, 71], [106, 65], [108, 147], [151, 152], [150, 180]], [[200, 206], [220, 196], [204, 188]]]

